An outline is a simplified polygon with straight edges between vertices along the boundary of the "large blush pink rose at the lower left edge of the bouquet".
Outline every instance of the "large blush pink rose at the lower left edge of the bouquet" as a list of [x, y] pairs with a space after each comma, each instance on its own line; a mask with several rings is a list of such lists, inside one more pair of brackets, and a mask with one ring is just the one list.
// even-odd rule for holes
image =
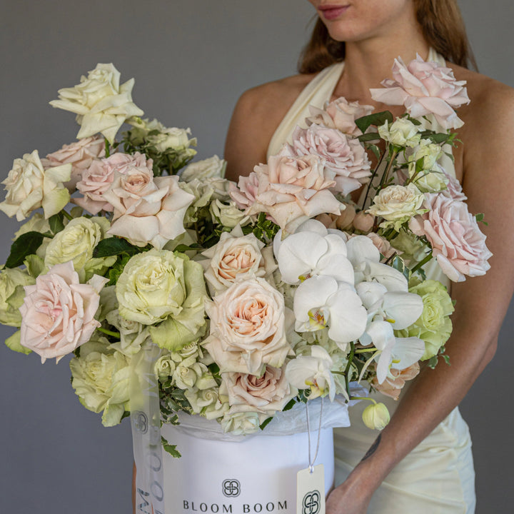
[[21, 312], [21, 346], [57, 362], [91, 338], [100, 323], [94, 315], [99, 308], [99, 292], [108, 280], [94, 275], [79, 283], [73, 263], [56, 264], [46, 275], [25, 287]]

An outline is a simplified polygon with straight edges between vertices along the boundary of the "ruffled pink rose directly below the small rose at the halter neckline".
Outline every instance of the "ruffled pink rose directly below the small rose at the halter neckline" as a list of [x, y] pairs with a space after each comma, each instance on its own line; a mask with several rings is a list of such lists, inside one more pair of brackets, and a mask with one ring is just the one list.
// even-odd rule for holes
[[371, 162], [358, 139], [348, 138], [337, 129], [311, 125], [308, 129], [297, 126], [293, 143], [288, 146], [291, 156], [318, 156], [325, 160], [326, 169], [333, 171], [334, 191], [347, 195], [360, 188], [371, 175]]

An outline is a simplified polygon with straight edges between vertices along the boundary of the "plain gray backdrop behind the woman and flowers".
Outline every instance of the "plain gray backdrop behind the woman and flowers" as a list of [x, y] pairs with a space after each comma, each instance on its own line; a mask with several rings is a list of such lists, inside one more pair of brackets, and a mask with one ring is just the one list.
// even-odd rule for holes
[[[191, 126], [201, 158], [223, 153], [238, 96], [295, 72], [313, 14], [306, 0], [0, 0], [0, 165], [74, 140], [74, 116], [52, 109], [97, 62], [136, 78], [133, 99], [167, 126]], [[514, 86], [510, 0], [461, 1], [480, 71]], [[503, 41], [503, 44], [500, 44]], [[2, 195], [3, 197], [3, 195]], [[18, 224], [2, 217], [0, 261]], [[514, 504], [510, 392], [513, 310], [493, 363], [462, 404], [478, 478], [478, 512]], [[0, 338], [9, 328], [0, 328]], [[131, 512], [131, 435], [103, 428], [69, 385], [69, 359], [41, 366], [0, 347], [0, 504], [13, 513]]]

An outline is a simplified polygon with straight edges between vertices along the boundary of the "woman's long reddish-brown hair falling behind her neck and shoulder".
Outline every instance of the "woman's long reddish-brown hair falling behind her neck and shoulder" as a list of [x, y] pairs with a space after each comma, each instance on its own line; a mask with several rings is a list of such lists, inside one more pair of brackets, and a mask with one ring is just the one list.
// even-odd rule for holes
[[[464, 22], [457, 0], [413, 0], [416, 19], [425, 41], [446, 61], [477, 69], [470, 48]], [[311, 40], [303, 49], [298, 61], [301, 74], [316, 73], [345, 57], [344, 41], [336, 41], [328, 34], [323, 21], [318, 18]]]

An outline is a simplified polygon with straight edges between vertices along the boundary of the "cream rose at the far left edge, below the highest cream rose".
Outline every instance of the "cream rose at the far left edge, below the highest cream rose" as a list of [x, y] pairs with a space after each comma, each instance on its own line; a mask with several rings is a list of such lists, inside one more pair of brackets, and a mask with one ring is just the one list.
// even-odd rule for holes
[[23, 158], [14, 159], [13, 168], [2, 182], [7, 195], [0, 203], [0, 211], [9, 218], [16, 214], [18, 221], [40, 207], [46, 219], [54, 216], [69, 202], [69, 191], [63, 182], [69, 181], [70, 175], [71, 164], [45, 171], [37, 150], [25, 153]]

